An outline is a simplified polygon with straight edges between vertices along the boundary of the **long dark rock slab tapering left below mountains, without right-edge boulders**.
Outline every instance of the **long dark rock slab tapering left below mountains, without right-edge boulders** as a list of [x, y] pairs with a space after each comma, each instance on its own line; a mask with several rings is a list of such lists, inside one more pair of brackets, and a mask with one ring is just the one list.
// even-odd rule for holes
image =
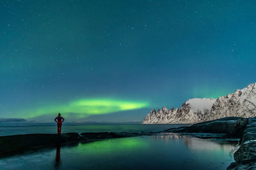
[[191, 125], [189, 127], [167, 129], [165, 132], [214, 133], [225, 134], [226, 138], [241, 138], [246, 124], [248, 124], [248, 118], [227, 117]]

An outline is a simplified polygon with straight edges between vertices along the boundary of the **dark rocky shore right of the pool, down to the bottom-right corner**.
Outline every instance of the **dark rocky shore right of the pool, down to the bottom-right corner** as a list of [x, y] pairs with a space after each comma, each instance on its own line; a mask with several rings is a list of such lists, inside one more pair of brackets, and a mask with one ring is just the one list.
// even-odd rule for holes
[[239, 138], [240, 146], [234, 153], [236, 162], [232, 162], [227, 169], [256, 169], [256, 117], [220, 118], [190, 127], [167, 129], [165, 132], [192, 134], [197, 138], [205, 138], [204, 133], [214, 134], [207, 138]]

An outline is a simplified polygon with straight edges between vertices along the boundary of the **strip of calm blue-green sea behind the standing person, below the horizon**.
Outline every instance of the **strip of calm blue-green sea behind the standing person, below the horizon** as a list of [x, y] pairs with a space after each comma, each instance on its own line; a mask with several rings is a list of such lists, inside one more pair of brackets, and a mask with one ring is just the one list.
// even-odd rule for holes
[[[141, 125], [141, 124], [65, 124], [62, 132], [158, 132], [188, 124]], [[0, 136], [13, 134], [57, 133], [56, 124], [0, 124]]]

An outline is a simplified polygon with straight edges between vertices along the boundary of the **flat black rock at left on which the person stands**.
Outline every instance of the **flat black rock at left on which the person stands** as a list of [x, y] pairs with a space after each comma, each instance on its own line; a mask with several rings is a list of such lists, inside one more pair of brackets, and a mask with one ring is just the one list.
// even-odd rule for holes
[[86, 132], [66, 134], [19, 134], [12, 136], [0, 136], [0, 157], [7, 157], [29, 150], [52, 148], [56, 146], [78, 145], [91, 141], [99, 141], [111, 138], [126, 138], [132, 136], [149, 135], [150, 133], [129, 132]]

